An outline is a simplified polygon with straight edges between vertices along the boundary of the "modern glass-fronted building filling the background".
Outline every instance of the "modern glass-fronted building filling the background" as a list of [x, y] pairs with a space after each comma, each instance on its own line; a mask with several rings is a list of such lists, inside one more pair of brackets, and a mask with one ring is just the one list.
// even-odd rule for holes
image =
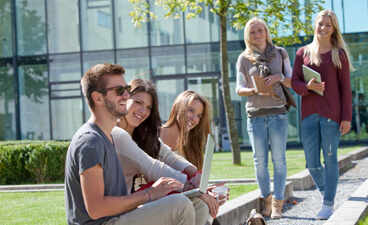
[[[351, 73], [354, 125], [342, 140], [368, 140], [368, 0], [327, 0], [323, 6], [338, 15], [356, 68]], [[134, 28], [127, 0], [0, 0], [0, 140], [71, 139], [89, 118], [80, 78], [91, 66], [109, 62], [126, 69], [127, 81], [155, 83], [163, 121], [184, 90], [208, 97], [213, 130], [226, 149], [218, 18], [205, 6], [190, 20], [183, 19], [185, 13], [163, 19], [161, 8], [152, 4], [151, 9], [158, 19]], [[239, 141], [249, 146], [246, 99], [235, 93], [243, 31], [227, 29], [231, 99]], [[292, 64], [299, 47], [287, 47]], [[289, 143], [300, 143], [299, 124], [300, 109], [293, 108]]]

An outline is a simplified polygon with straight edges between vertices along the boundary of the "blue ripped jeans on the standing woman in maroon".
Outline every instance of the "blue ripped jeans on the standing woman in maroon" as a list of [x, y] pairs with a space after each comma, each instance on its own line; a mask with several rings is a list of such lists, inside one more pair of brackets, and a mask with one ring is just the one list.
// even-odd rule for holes
[[[339, 180], [337, 148], [340, 142], [340, 125], [318, 114], [302, 121], [302, 141], [307, 168], [317, 188], [324, 193], [323, 204], [332, 206]], [[321, 148], [325, 166], [321, 164]]]

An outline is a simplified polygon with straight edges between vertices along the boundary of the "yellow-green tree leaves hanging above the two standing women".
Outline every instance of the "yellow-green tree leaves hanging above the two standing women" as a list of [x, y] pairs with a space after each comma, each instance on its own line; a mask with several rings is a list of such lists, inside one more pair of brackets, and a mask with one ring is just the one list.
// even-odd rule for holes
[[[324, 1], [310, 0], [301, 4], [298, 0], [129, 0], [133, 11], [130, 16], [135, 26], [142, 22], [156, 19], [157, 15], [150, 11], [150, 4], [161, 6], [165, 10], [165, 18], [180, 18], [186, 12], [186, 18], [195, 18], [202, 12], [203, 6], [217, 16], [225, 16], [229, 24], [243, 29], [246, 22], [257, 16], [264, 19], [273, 41], [278, 45], [301, 43], [301, 37], [313, 34], [312, 14], [322, 10], [320, 3]], [[304, 1], [303, 1], [304, 2]]]

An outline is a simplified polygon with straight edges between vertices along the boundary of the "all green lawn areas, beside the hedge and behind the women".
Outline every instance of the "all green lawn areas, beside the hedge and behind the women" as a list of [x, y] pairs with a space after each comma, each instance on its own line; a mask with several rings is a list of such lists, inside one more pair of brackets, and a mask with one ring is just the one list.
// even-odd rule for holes
[[[357, 147], [340, 148], [344, 154]], [[303, 150], [287, 150], [288, 176], [305, 168]], [[254, 178], [253, 158], [250, 151], [241, 153], [242, 165], [232, 165], [230, 152], [214, 154], [210, 179]], [[272, 163], [270, 163], [272, 174]], [[256, 190], [256, 184], [231, 185], [230, 199]], [[0, 193], [0, 224], [66, 224], [64, 192]]]

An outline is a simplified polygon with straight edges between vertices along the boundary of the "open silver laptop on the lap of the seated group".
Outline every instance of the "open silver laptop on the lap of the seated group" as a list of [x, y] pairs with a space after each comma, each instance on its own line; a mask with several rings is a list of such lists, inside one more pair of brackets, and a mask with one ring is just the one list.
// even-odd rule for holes
[[208, 186], [208, 180], [210, 179], [212, 156], [213, 156], [214, 148], [215, 148], [215, 141], [213, 140], [211, 135], [208, 134], [206, 152], [204, 155], [204, 163], [203, 163], [202, 176], [201, 176], [201, 181], [199, 183], [199, 188], [185, 191], [185, 192], [182, 192], [181, 194], [187, 196], [188, 198], [194, 198], [194, 197], [198, 197], [202, 194], [207, 193], [207, 186]]

